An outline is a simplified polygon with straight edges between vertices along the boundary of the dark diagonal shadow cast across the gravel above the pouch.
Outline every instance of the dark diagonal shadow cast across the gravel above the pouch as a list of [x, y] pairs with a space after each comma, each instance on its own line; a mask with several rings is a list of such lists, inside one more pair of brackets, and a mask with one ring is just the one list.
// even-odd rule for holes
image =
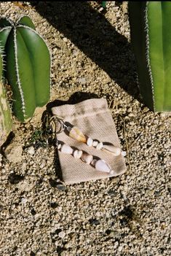
[[36, 11], [140, 101], [130, 42], [85, 1], [31, 2]]

